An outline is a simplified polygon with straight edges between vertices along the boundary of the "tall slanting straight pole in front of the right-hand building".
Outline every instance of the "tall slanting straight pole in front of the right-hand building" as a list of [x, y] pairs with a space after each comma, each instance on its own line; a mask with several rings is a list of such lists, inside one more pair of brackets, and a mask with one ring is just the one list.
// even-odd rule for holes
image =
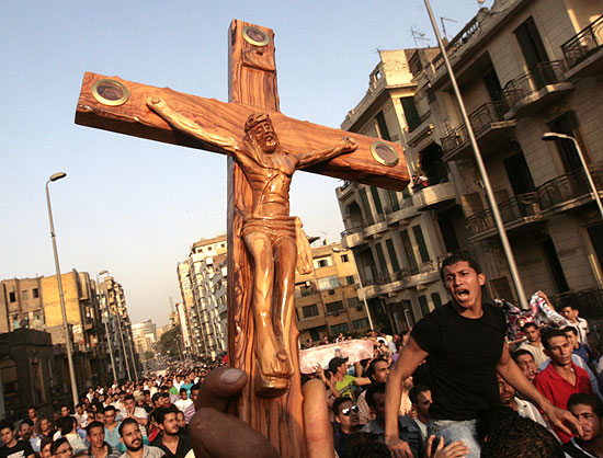
[[423, 1], [425, 3], [425, 8], [430, 16], [433, 32], [435, 33], [435, 38], [437, 39], [437, 45], [440, 46], [440, 50], [442, 53], [442, 59], [446, 65], [446, 70], [448, 72], [448, 77], [451, 78], [451, 84], [453, 87], [454, 94], [456, 95], [456, 101], [458, 103], [458, 108], [460, 110], [463, 122], [465, 123], [465, 127], [467, 129], [467, 137], [469, 137], [469, 144], [471, 145], [471, 149], [474, 150], [477, 168], [479, 170], [479, 174], [481, 175], [481, 182], [483, 184], [483, 188], [486, 190], [486, 195], [488, 197], [488, 203], [490, 205], [490, 211], [492, 213], [492, 218], [494, 220], [494, 225], [497, 227], [497, 231], [500, 237], [502, 250], [504, 251], [507, 263], [509, 264], [509, 272], [511, 273], [511, 278], [513, 279], [513, 285], [515, 286], [515, 291], [517, 293], [517, 299], [520, 300], [521, 308], [523, 310], [527, 310], [528, 304], [525, 297], [525, 291], [523, 289], [517, 265], [515, 263], [515, 256], [513, 255], [511, 243], [509, 243], [509, 238], [507, 237], [504, 222], [502, 221], [502, 217], [499, 211], [497, 199], [494, 197], [492, 186], [490, 185], [490, 178], [488, 176], [488, 171], [486, 170], [486, 165], [483, 164], [483, 159], [481, 158], [481, 152], [479, 151], [479, 146], [477, 145], [477, 140], [475, 138], [471, 122], [469, 119], [469, 116], [467, 115], [467, 111], [465, 110], [465, 103], [463, 102], [460, 90], [458, 89], [458, 84], [456, 83], [456, 77], [454, 76], [453, 68], [448, 60], [448, 55], [446, 54], [446, 47], [444, 46], [444, 42], [442, 42], [442, 36], [440, 35], [440, 28], [437, 28], [437, 23], [435, 22], [435, 18], [433, 15], [433, 11], [431, 10], [430, 2], [429, 0], [423, 0]]

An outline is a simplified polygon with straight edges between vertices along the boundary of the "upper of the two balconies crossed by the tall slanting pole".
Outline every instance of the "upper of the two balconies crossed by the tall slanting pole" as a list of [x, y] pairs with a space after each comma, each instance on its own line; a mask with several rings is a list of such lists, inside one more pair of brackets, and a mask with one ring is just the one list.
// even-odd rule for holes
[[[498, 101], [485, 103], [469, 115], [474, 135], [483, 156], [494, 151], [499, 141], [509, 136], [515, 128], [517, 124], [515, 119], [504, 119], [504, 113], [508, 111], [507, 102]], [[456, 126], [440, 141], [443, 151], [442, 159], [445, 161], [456, 160], [473, 153], [465, 123]]]

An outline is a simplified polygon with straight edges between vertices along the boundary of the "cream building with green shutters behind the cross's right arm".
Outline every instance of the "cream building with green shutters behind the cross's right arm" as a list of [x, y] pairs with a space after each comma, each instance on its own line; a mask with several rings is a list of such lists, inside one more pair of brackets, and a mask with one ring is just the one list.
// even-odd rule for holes
[[[368, 90], [341, 128], [405, 145], [417, 114], [417, 83], [410, 71], [414, 54], [424, 61], [435, 56], [430, 48], [379, 51]], [[411, 175], [422, 174], [409, 165]], [[447, 231], [463, 226], [463, 214], [445, 165], [437, 172], [445, 198], [434, 199], [433, 187], [412, 183], [402, 192], [351, 182], [335, 190], [345, 226], [343, 247], [354, 253], [361, 290], [379, 322], [375, 327], [384, 331], [408, 330], [446, 300], [439, 261], [466, 248], [463, 231], [457, 237]]]

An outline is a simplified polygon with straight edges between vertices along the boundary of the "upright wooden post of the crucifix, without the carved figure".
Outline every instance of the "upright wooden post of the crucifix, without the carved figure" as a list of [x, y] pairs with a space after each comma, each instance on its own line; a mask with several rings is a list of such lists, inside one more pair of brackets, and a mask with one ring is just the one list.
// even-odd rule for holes
[[[263, 31], [270, 42], [257, 46], [243, 38], [246, 26]], [[258, 107], [258, 112], [278, 112], [274, 32], [234, 20], [229, 30], [229, 102]], [[249, 382], [238, 402], [238, 415], [264, 434], [287, 458], [306, 456], [304, 447], [303, 396], [297, 352], [292, 365], [291, 389], [281, 397], [259, 398], [254, 386], [255, 362], [253, 317], [250, 310], [253, 289], [252, 265], [241, 238], [243, 216], [251, 213], [251, 190], [242, 170], [228, 158], [228, 358], [232, 367], [244, 370]], [[297, 348], [294, 324], [291, 347]]]

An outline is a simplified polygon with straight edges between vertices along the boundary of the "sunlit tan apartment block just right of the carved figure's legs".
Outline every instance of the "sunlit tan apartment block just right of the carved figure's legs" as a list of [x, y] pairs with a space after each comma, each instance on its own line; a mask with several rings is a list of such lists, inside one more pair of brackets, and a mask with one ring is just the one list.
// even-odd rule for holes
[[311, 273], [295, 274], [299, 343], [318, 342], [325, 335], [332, 337], [368, 331], [369, 320], [359, 298], [360, 283], [352, 250], [341, 243], [312, 248], [312, 265]]

